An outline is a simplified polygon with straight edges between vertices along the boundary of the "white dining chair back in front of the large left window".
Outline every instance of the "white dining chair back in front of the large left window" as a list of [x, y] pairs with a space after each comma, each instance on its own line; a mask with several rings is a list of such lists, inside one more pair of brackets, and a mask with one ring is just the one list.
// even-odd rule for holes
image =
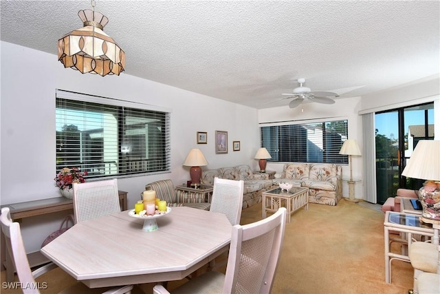
[[118, 180], [74, 183], [75, 222], [120, 212]]

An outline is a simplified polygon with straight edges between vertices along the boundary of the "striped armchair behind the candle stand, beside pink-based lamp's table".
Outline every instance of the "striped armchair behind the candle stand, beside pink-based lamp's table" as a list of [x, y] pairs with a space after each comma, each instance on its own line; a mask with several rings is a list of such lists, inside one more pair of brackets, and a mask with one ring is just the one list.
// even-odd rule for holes
[[165, 200], [168, 207], [184, 206], [203, 210], [209, 210], [211, 207], [211, 204], [204, 202], [204, 199], [197, 199], [197, 193], [188, 193], [188, 197], [192, 199], [189, 202], [185, 202], [185, 199], [181, 197], [182, 194], [175, 189], [171, 180], [157, 180], [145, 185], [145, 191], [150, 190], [156, 191], [156, 197], [160, 198], [160, 200]]

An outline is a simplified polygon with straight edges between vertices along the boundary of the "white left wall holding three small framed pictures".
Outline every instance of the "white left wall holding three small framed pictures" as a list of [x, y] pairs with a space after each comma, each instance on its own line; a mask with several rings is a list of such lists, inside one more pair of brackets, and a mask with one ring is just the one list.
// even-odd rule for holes
[[[259, 147], [256, 109], [129, 76], [125, 72], [105, 77], [80, 74], [65, 69], [55, 55], [12, 43], [1, 42], [0, 50], [1, 204], [60, 195], [54, 185], [56, 89], [172, 109], [171, 172], [120, 178], [119, 189], [129, 192], [129, 207], [134, 207], [148, 182], [170, 178], [179, 185], [189, 180], [189, 168], [182, 163], [194, 147], [199, 147], [208, 160], [205, 169], [239, 164], [257, 167], [253, 159]], [[228, 154], [215, 154], [215, 130], [228, 132]], [[197, 132], [208, 133], [208, 144], [197, 145]], [[233, 140], [241, 141], [241, 151], [232, 151]], [[58, 229], [64, 215], [52, 213], [23, 220], [26, 250], [39, 250], [45, 236]]]

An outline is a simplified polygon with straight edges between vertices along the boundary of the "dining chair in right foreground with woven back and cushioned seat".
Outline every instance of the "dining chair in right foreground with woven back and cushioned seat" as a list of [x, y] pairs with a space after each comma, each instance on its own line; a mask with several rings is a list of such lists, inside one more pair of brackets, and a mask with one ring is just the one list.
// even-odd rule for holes
[[[283, 245], [286, 209], [263, 220], [232, 227], [226, 273], [208, 271], [175, 288], [178, 293], [270, 293]], [[153, 293], [169, 293], [155, 285]]]

